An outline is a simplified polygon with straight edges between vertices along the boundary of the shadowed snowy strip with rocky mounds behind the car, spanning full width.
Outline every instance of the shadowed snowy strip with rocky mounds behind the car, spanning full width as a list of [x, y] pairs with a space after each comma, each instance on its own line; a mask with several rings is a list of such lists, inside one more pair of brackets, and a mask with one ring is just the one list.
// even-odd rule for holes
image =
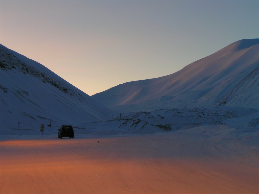
[[[88, 121], [87, 119], [85, 121]], [[37, 123], [35, 121], [35, 123]], [[1, 135], [40, 135], [40, 124], [21, 121], [18, 129], [0, 126]], [[64, 121], [45, 123], [45, 135], [57, 134], [61, 125], [72, 125], [76, 134], [92, 135], [130, 135], [147, 134], [166, 131], [176, 131], [202, 125], [222, 125], [259, 127], [259, 111], [242, 107], [206, 107], [191, 109], [160, 109], [155, 111], [140, 111], [122, 113], [103, 122], [75, 123]], [[258, 129], [259, 130], [259, 129]]]

